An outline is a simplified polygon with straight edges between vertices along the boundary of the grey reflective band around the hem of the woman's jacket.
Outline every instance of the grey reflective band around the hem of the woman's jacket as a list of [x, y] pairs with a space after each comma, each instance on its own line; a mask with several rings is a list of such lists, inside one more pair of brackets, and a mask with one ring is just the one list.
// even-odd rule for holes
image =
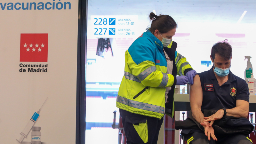
[[133, 107], [133, 108], [139, 108], [139, 109], [143, 109], [143, 110], [148, 110], [148, 111], [153, 111], [153, 112], [164, 114], [164, 107], [151, 105], [151, 104], [143, 103], [143, 102], [139, 102], [139, 101], [129, 100], [129, 99], [126, 99], [119, 95], [117, 95], [116, 101], [120, 102], [124, 105]]

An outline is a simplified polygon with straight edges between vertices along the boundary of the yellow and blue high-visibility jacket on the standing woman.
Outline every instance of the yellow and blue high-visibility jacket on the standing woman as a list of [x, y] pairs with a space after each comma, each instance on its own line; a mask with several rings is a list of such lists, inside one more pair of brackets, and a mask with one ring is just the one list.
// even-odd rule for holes
[[[171, 46], [170, 44], [168, 47]], [[175, 64], [178, 75], [184, 75], [185, 69], [192, 68], [186, 58], [177, 52]], [[165, 87], [175, 84], [176, 74], [167, 74], [163, 44], [148, 30], [125, 52], [124, 76], [119, 87], [116, 107], [161, 119], [165, 113]], [[171, 109], [173, 117], [174, 104]]]

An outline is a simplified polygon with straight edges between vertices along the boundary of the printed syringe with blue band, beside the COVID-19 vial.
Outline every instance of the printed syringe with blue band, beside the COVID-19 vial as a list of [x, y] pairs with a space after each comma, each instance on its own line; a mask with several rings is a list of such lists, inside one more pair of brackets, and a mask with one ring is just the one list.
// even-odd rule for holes
[[[48, 99], [48, 98], [46, 98], [46, 100], [47, 100], [47, 99]], [[46, 101], [46, 100], [45, 100], [45, 101]], [[45, 103], [45, 101], [44, 101], [44, 103]], [[44, 104], [43, 104], [43, 105], [44, 105]], [[42, 107], [43, 107], [43, 105], [42, 105]], [[41, 107], [41, 108], [42, 108], [42, 107]], [[24, 130], [20, 133], [20, 134], [21, 134], [20, 139], [16, 139], [16, 140], [18, 140], [20, 143], [22, 142], [22, 140], [23, 140], [25, 137], [27, 137], [28, 132], [31, 130], [31, 128], [32, 128], [33, 125], [35, 124], [37, 118], [39, 117], [39, 112], [40, 112], [41, 108], [40, 108], [37, 112], [34, 113], [34, 115], [33, 115], [33, 116], [31, 117], [31, 119], [29, 120], [28, 124], [27, 124], [26, 127], [24, 128]]]

